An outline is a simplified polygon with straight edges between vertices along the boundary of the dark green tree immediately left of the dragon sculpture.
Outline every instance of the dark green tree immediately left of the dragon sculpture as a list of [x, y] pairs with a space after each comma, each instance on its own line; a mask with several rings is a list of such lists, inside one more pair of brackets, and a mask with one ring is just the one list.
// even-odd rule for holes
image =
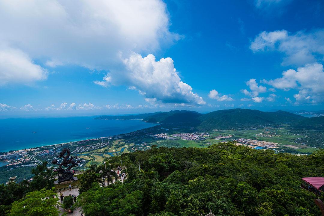
[[33, 190], [39, 189], [52, 189], [54, 187], [54, 173], [51, 168], [47, 167], [47, 162], [43, 162], [41, 165], [37, 165], [36, 168], [31, 170], [34, 174], [33, 180], [30, 183]]

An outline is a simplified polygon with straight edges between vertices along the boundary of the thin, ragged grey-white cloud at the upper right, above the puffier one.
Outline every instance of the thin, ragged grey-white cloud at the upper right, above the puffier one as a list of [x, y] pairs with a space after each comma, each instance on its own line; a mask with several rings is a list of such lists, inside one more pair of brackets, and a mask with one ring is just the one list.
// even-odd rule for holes
[[302, 66], [323, 60], [324, 30], [299, 31], [289, 34], [286, 30], [261, 32], [250, 45], [254, 52], [277, 50], [285, 54], [283, 65]]

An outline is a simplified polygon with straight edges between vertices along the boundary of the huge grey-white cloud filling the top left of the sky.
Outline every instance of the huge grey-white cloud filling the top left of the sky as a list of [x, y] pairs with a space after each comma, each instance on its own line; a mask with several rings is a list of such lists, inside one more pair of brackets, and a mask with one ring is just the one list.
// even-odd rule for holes
[[158, 49], [179, 35], [169, 32], [160, 0], [1, 1], [0, 40], [47, 59], [55, 67], [77, 64], [110, 69], [119, 53]]

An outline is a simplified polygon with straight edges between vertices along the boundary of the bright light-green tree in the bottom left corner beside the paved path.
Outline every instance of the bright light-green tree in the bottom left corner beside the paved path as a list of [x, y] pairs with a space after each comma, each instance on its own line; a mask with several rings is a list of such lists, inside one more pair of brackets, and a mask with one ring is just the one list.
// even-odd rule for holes
[[52, 190], [29, 192], [23, 199], [12, 204], [9, 216], [58, 216], [58, 198]]

